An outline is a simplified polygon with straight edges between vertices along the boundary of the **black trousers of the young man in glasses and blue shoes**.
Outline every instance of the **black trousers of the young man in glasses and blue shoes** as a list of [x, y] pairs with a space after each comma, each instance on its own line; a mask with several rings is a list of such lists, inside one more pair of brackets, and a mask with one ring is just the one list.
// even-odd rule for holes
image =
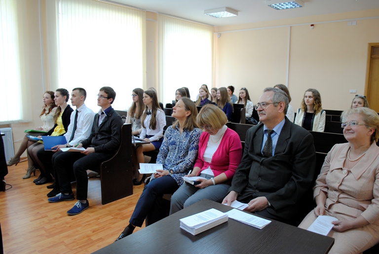
[[54, 157], [54, 169], [61, 193], [73, 193], [70, 184], [70, 171], [74, 170], [76, 178], [76, 199], [86, 200], [88, 193], [88, 176], [86, 170], [99, 171], [100, 164], [112, 157], [112, 154], [79, 152], [61, 152]]

